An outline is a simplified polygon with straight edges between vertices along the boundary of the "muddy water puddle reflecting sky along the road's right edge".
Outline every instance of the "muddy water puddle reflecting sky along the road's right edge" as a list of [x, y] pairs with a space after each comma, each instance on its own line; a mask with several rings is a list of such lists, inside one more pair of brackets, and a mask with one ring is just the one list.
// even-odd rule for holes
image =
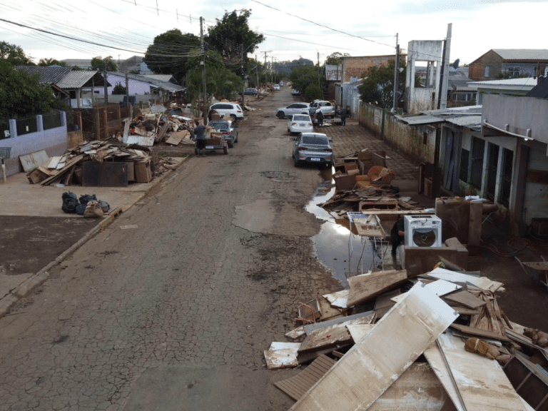
[[350, 235], [349, 220], [335, 219], [328, 211], [318, 206], [333, 197], [334, 193], [334, 181], [324, 181], [316, 189], [305, 210], [325, 221], [320, 233], [312, 238], [315, 253], [318, 260], [347, 288], [346, 278], [350, 276], [349, 273], [367, 273], [380, 265], [380, 248], [377, 250], [369, 238], [360, 238], [356, 233]]

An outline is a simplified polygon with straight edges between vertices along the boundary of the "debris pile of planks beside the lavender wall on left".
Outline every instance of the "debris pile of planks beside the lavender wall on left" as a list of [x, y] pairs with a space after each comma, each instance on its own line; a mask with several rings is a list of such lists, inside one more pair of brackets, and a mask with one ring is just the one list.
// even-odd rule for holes
[[42, 186], [126, 187], [132, 181], [148, 183], [174, 165], [173, 159], [160, 159], [151, 148], [126, 146], [110, 138], [86, 142], [63, 156], [47, 158], [26, 176], [30, 183]]

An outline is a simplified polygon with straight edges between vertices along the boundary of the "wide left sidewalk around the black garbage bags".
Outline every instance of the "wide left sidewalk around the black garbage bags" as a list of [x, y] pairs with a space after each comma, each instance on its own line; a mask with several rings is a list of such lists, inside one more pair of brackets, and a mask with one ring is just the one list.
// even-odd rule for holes
[[[188, 157], [175, 158], [180, 166]], [[169, 176], [168, 171], [150, 183], [128, 187], [41, 186], [31, 184], [26, 173], [0, 183], [0, 317], [19, 298], [47, 279], [52, 266], [128, 210], [153, 187]], [[62, 193], [95, 194], [111, 210], [104, 218], [83, 218], [61, 210]]]

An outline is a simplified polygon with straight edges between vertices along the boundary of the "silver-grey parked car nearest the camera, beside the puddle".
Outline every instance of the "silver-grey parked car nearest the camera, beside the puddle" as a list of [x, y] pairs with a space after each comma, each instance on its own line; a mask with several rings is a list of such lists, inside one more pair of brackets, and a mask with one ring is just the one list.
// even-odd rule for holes
[[291, 138], [293, 145], [293, 159], [295, 167], [300, 163], [315, 163], [326, 167], [333, 166], [332, 141], [322, 133], [300, 133]]

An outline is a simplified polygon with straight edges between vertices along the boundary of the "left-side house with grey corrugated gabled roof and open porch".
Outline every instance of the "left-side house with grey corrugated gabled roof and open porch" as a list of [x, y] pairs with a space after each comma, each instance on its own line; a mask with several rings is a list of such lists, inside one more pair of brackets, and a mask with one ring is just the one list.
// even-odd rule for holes
[[[103, 75], [98, 71], [72, 71], [71, 67], [59, 66], [16, 66], [16, 68], [31, 74], [39, 73], [40, 83], [49, 84], [54, 90], [64, 94], [64, 97], [70, 99], [68, 103], [74, 108], [93, 106], [92, 99], [83, 101], [83, 92], [104, 87], [105, 84]], [[107, 85], [110, 86], [108, 82]]]

